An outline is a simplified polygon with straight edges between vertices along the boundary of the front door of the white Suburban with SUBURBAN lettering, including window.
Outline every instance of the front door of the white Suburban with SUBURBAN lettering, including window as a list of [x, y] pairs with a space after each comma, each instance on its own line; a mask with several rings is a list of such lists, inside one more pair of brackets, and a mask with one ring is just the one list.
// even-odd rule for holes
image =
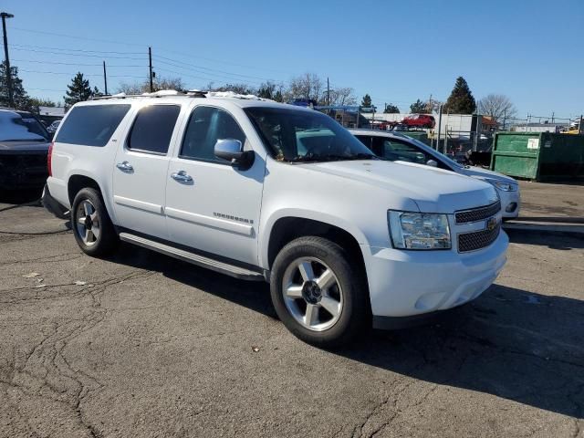
[[186, 125], [166, 181], [170, 240], [206, 253], [257, 265], [257, 227], [266, 162], [238, 170], [214, 156], [217, 140], [235, 139], [251, 149], [234, 117], [197, 106]]

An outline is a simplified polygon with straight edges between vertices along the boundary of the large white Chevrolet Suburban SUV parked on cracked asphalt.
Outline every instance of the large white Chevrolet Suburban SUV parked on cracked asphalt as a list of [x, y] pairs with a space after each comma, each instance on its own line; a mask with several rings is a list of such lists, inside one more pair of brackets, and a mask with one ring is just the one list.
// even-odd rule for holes
[[384, 161], [314, 110], [166, 94], [78, 103], [57, 130], [46, 197], [88, 255], [121, 240], [266, 280], [320, 346], [462, 305], [504, 266], [493, 185]]

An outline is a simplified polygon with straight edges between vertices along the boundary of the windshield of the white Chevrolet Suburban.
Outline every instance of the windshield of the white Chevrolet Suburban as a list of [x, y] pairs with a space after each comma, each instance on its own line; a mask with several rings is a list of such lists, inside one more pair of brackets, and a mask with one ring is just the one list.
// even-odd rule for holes
[[276, 160], [377, 160], [348, 130], [318, 111], [258, 107], [245, 113]]

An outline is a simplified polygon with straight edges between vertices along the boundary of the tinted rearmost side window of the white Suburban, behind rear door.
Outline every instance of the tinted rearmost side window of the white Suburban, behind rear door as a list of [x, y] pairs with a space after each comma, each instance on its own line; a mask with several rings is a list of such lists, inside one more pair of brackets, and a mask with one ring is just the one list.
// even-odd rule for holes
[[130, 105], [90, 105], [70, 110], [55, 141], [105, 146], [120, 121], [130, 110]]

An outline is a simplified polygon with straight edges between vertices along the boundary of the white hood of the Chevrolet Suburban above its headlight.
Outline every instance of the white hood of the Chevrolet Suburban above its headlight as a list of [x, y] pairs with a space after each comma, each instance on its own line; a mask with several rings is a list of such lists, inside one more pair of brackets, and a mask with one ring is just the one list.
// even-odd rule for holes
[[488, 205], [498, 199], [495, 188], [489, 183], [428, 166], [376, 160], [319, 162], [302, 166], [408, 198], [423, 213], [452, 214], [457, 210]]

